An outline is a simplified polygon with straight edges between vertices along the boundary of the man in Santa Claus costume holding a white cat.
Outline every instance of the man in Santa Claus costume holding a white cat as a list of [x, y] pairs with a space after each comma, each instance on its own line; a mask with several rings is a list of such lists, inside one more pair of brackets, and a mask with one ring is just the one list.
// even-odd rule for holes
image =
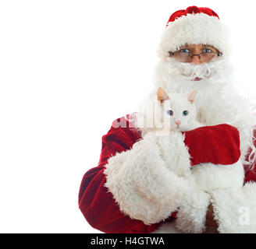
[[[226, 26], [212, 9], [190, 6], [170, 16], [148, 100], [159, 87], [168, 93], [197, 89], [197, 121], [204, 127], [159, 140], [139, 127], [140, 111], [113, 121], [98, 167], [80, 185], [79, 207], [91, 226], [104, 233], [256, 233], [255, 115], [233, 84], [229, 56]], [[238, 160], [244, 164], [241, 188], [200, 195], [170, 170], [200, 163], [232, 167]], [[180, 226], [174, 226], [177, 219]]]

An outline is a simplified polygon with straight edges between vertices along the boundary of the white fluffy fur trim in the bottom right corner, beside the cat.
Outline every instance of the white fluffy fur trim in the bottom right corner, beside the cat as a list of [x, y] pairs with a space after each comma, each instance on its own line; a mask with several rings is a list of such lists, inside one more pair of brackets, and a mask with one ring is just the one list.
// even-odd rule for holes
[[256, 183], [212, 192], [219, 233], [256, 233]]

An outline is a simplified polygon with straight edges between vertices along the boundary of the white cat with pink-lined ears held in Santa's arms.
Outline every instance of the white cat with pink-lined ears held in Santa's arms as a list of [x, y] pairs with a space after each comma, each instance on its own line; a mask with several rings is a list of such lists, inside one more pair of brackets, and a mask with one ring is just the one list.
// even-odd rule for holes
[[[164, 124], [162, 131], [166, 132], [169, 129], [172, 132], [187, 132], [204, 126], [196, 120], [197, 110], [194, 104], [196, 95], [197, 90], [187, 94], [168, 94], [162, 88], [158, 89], [157, 99], [162, 111], [160, 118]], [[159, 130], [158, 128], [158, 132]], [[233, 165], [200, 163], [188, 169], [190, 174], [186, 172], [186, 169], [181, 172], [180, 169], [172, 167], [170, 170], [181, 177], [190, 178], [188, 181], [193, 179], [194, 196], [184, 200], [183, 205], [179, 207], [178, 218], [175, 223], [169, 225], [169, 230], [168, 225], [165, 224], [165, 231], [162, 230], [162, 233], [203, 232], [205, 214], [212, 201], [212, 191], [223, 188], [242, 188], [244, 184], [244, 167], [240, 160]], [[200, 213], [202, 213], [201, 216]], [[177, 228], [176, 232], [173, 230], [173, 224]]]

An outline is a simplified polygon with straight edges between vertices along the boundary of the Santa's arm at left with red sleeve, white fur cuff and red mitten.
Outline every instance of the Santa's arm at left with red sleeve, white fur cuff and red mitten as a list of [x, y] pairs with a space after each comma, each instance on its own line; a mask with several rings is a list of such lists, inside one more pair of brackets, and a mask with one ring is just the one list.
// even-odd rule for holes
[[[227, 138], [225, 142], [216, 139], [220, 131]], [[176, 133], [159, 144], [161, 139], [155, 135], [149, 133], [141, 139], [128, 122], [124, 128], [114, 121], [102, 137], [98, 167], [88, 170], [80, 184], [81, 212], [91, 226], [104, 233], [151, 233], [175, 218], [176, 208], [190, 193], [190, 184], [173, 174], [169, 163], [183, 169], [205, 160], [234, 163], [239, 158], [236, 132], [226, 125], [199, 128], [183, 135]], [[222, 151], [230, 151], [230, 144], [233, 153], [222, 156]], [[202, 149], [208, 156], [201, 154]]]

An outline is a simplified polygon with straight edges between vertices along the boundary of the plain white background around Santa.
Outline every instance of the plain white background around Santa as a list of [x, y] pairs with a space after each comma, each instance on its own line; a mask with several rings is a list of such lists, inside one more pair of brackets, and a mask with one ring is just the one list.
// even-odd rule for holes
[[0, 232], [98, 233], [78, 209], [101, 136], [151, 90], [172, 12], [215, 10], [236, 79], [256, 93], [251, 1], [1, 1]]

